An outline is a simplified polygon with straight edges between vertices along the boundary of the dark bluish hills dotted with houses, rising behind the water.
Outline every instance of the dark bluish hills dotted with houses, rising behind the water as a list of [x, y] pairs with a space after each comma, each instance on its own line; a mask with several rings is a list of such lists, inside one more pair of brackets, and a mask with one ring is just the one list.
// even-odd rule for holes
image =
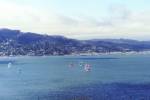
[[129, 39], [76, 40], [63, 36], [0, 29], [0, 55], [69, 55], [150, 50], [150, 41]]

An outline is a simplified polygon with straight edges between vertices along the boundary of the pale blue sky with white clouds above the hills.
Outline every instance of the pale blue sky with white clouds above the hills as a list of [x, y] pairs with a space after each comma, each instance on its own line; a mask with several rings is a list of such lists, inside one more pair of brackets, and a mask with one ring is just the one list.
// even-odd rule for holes
[[150, 0], [0, 0], [0, 28], [75, 39], [150, 40]]

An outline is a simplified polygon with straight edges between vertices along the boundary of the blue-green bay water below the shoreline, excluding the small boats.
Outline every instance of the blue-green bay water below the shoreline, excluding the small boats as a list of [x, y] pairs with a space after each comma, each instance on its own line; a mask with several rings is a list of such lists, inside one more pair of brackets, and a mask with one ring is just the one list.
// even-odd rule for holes
[[149, 83], [150, 54], [0, 58], [0, 100], [149, 100]]

